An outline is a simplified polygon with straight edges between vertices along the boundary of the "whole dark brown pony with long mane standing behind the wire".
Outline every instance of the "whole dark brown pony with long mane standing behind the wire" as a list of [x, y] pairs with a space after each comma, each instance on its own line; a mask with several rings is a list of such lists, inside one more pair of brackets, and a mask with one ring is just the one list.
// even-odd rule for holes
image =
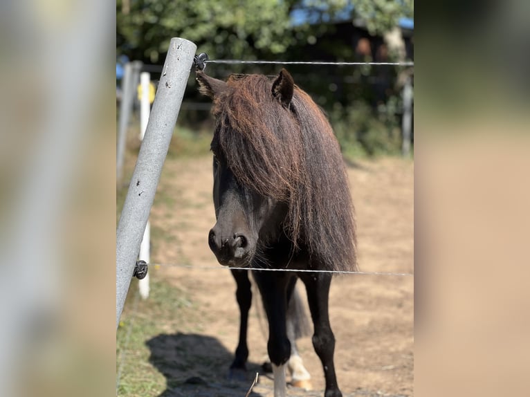
[[[249, 268], [356, 270], [353, 205], [345, 166], [329, 122], [309, 95], [282, 69], [232, 76], [227, 82], [197, 72], [200, 91], [213, 99], [214, 205], [208, 238], [219, 263]], [[250, 282], [232, 270], [241, 310], [232, 367], [248, 357], [246, 322]], [[269, 323], [268, 354], [275, 396], [285, 395], [289, 359], [286, 308], [299, 277], [313, 319], [313, 347], [325, 372], [325, 396], [341, 396], [333, 367], [329, 273], [253, 270]], [[283, 384], [283, 386], [282, 386]]]

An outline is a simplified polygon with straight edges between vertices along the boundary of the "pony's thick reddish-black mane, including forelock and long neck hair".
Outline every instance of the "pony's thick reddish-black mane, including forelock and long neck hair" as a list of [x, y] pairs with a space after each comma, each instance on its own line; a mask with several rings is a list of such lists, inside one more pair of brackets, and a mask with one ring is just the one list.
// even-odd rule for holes
[[212, 148], [239, 183], [288, 203], [284, 230], [309, 250], [310, 266], [356, 270], [353, 205], [331, 126], [297, 86], [289, 108], [271, 90], [263, 75], [231, 77], [214, 99]]

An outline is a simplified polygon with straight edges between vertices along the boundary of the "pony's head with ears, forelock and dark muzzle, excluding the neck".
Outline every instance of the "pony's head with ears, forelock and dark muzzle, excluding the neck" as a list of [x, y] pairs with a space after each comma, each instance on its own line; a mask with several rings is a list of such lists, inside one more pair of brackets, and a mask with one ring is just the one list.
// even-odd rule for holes
[[[223, 82], [201, 72], [197, 80], [200, 91], [214, 100], [216, 118], [211, 149], [217, 223], [208, 243], [219, 263], [248, 266], [259, 258], [260, 247], [278, 239], [288, 214], [294, 181], [282, 169], [292, 170], [298, 156], [277, 138], [279, 128], [295, 127], [287, 110], [293, 79], [283, 70], [273, 82], [264, 76]], [[275, 153], [275, 163], [269, 151]]]

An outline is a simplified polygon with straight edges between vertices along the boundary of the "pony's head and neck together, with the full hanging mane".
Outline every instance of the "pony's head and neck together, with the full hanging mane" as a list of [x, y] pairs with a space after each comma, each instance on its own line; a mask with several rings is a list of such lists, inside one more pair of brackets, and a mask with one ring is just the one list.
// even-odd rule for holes
[[351, 197], [329, 122], [285, 70], [197, 72], [213, 100], [214, 205], [210, 248], [226, 266], [247, 266], [282, 239], [321, 268], [355, 266]]

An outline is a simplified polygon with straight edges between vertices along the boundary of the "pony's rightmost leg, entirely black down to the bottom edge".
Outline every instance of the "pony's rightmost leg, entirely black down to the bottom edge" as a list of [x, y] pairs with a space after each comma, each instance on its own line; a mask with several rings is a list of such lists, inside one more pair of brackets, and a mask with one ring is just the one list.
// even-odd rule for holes
[[335, 337], [329, 324], [329, 286], [331, 275], [327, 273], [302, 273], [300, 279], [304, 281], [307, 288], [307, 299], [311, 317], [313, 318], [313, 347], [317, 353], [326, 380], [325, 397], [342, 397], [338, 389], [333, 364], [333, 353], [335, 351]]

